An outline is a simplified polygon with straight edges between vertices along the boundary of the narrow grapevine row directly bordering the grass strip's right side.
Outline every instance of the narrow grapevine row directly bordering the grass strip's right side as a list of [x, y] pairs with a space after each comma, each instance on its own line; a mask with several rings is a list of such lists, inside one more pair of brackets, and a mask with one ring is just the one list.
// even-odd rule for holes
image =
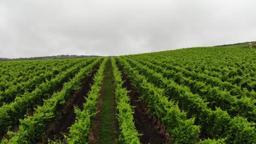
[[133, 122], [133, 111], [129, 104], [130, 99], [127, 96], [128, 91], [122, 87], [123, 81], [121, 73], [117, 68], [117, 64], [115, 64], [113, 57], [111, 57], [111, 63], [113, 68], [115, 101], [117, 103], [118, 123], [120, 129], [119, 141], [121, 143], [140, 143], [138, 138], [139, 134]]

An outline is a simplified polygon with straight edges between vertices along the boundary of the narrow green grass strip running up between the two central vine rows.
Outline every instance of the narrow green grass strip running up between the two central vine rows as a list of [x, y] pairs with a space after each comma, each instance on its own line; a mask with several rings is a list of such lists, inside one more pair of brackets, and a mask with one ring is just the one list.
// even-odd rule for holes
[[106, 64], [106, 78], [102, 97], [101, 120], [97, 143], [116, 143], [115, 135], [118, 129], [115, 127], [115, 105], [114, 94], [112, 93], [112, 69], [109, 61]]

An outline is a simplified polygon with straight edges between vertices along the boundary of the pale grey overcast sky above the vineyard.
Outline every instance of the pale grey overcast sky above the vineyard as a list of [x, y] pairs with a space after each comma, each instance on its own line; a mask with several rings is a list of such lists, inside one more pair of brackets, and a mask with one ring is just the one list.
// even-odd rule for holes
[[0, 57], [127, 55], [256, 41], [253, 0], [0, 0]]

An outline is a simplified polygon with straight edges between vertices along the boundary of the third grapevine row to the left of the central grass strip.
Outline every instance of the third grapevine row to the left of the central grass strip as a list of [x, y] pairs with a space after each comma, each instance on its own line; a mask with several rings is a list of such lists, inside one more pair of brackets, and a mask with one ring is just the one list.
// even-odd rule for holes
[[13, 103], [0, 107], [0, 134], [3, 135], [11, 126], [18, 125], [19, 119], [24, 118], [24, 115], [29, 110], [33, 111], [37, 105], [42, 105], [43, 99], [47, 99], [60, 89], [64, 82], [67, 82], [79, 71], [80, 67], [88, 65], [91, 61], [94, 61], [92, 64], [98, 63], [100, 60], [100, 58], [90, 59], [89, 61], [75, 65], [65, 72], [60, 73], [51, 81], [42, 83], [31, 93], [24, 93], [22, 97], [16, 97]]

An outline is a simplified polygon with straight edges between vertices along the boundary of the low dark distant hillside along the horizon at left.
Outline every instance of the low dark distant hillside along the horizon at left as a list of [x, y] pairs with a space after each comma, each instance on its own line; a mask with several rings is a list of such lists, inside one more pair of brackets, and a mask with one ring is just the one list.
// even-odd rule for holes
[[84, 57], [100, 57], [100, 56], [76, 56], [76, 55], [57, 55], [44, 57], [29, 57], [29, 58], [0, 58], [0, 61], [19, 61], [19, 60], [34, 60], [34, 59], [63, 59], [63, 58], [84, 58]]

